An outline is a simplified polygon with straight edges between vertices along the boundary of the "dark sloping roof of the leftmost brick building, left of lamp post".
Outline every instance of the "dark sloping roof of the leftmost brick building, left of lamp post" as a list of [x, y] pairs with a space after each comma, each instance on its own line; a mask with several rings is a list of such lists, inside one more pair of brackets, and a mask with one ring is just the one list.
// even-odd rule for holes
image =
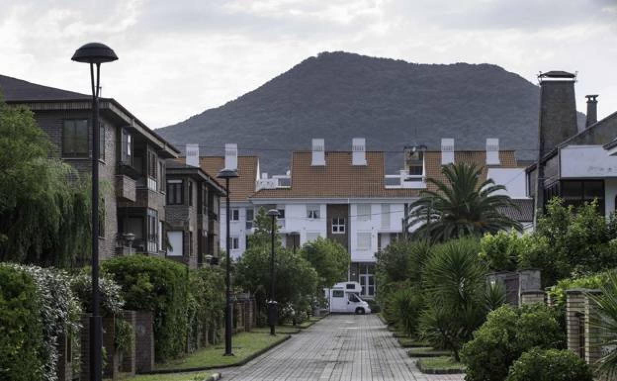
[[6, 101], [73, 101], [91, 99], [91, 95], [18, 80], [0, 75], [0, 93]]

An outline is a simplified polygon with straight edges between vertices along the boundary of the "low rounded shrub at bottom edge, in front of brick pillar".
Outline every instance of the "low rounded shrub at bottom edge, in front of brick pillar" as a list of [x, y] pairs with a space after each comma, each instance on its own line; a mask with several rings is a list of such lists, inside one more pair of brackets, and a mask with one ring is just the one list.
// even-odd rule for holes
[[534, 348], [516, 360], [506, 381], [593, 381], [589, 366], [571, 351]]

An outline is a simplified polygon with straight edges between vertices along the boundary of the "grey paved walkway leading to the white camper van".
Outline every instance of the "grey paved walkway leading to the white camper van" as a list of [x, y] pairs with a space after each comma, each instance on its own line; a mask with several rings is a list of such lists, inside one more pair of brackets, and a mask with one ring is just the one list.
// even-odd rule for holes
[[463, 380], [418, 371], [375, 314], [328, 316], [249, 364], [220, 372], [238, 381]]

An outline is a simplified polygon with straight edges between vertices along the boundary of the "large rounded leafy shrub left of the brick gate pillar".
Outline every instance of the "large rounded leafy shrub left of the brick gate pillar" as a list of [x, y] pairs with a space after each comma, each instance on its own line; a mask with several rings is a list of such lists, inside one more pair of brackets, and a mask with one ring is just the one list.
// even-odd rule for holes
[[512, 308], [509, 305], [488, 314], [461, 351], [467, 366], [466, 381], [503, 381], [508, 369], [531, 348], [560, 348], [563, 332], [555, 311], [544, 304]]

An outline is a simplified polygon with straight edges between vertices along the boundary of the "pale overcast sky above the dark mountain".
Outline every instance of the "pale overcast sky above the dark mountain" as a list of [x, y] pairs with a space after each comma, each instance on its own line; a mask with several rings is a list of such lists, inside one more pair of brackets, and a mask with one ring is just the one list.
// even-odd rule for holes
[[[578, 109], [617, 111], [617, 0], [0, 0], [0, 74], [89, 93], [70, 61], [119, 61], [102, 95], [153, 128], [220, 106], [322, 51], [497, 64], [536, 83], [578, 71]], [[473, 85], [473, 84], [471, 84]]]

